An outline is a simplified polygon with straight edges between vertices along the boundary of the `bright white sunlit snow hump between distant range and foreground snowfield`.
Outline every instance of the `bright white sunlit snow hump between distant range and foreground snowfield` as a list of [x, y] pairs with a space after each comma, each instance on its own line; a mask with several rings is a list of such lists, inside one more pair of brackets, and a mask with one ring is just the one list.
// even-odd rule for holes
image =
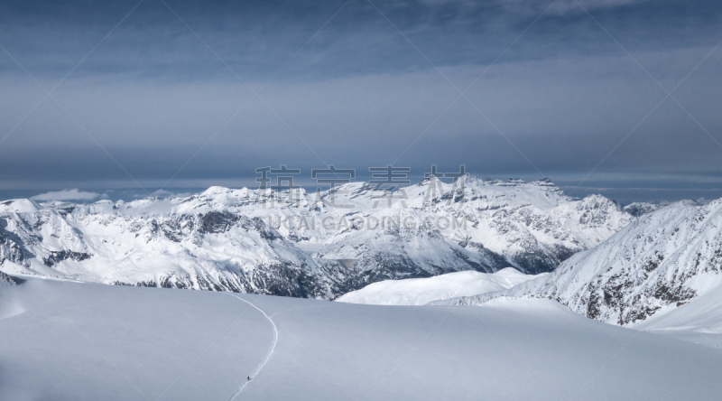
[[507, 267], [495, 273], [472, 270], [428, 278], [385, 280], [343, 294], [336, 301], [375, 305], [423, 305], [457, 296], [503, 291], [540, 275], [524, 275], [513, 267]]

